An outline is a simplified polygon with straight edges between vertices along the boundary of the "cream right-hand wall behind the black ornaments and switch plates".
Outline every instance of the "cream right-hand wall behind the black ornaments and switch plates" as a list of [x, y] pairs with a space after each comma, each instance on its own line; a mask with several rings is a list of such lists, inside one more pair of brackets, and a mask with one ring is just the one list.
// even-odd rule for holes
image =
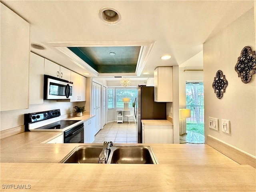
[[[252, 8], [214, 37], [206, 40], [204, 51], [205, 136], [211, 135], [244, 152], [256, 155], [256, 75], [244, 84], [234, 70], [244, 46], [256, 50], [254, 9]], [[221, 99], [216, 97], [212, 82], [222, 70], [228, 81]], [[208, 128], [208, 118], [230, 120], [231, 134]], [[206, 141], [207, 143], [207, 141]]]

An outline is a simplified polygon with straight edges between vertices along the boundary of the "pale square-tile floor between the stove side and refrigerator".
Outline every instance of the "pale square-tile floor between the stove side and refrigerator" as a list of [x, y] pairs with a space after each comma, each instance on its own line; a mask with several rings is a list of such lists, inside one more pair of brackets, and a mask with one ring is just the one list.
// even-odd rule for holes
[[112, 141], [114, 143], [138, 143], [138, 131], [134, 122], [106, 124], [102, 130], [95, 135], [94, 143]]

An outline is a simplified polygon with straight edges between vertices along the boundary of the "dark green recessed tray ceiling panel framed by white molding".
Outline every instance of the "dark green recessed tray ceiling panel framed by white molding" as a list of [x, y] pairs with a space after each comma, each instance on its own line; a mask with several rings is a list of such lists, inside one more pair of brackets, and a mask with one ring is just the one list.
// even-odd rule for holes
[[140, 46], [68, 47], [98, 73], [134, 73]]

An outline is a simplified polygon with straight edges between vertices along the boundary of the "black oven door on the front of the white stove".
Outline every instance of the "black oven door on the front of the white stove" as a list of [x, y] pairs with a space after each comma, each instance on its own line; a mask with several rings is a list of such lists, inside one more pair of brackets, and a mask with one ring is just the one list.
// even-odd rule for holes
[[64, 143], [84, 143], [84, 123], [65, 131]]

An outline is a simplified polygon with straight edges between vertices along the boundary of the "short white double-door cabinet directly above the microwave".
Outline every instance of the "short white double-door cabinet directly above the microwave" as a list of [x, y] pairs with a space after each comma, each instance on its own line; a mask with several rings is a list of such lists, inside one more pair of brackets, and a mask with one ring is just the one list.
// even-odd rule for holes
[[71, 70], [45, 59], [44, 74], [70, 81]]

